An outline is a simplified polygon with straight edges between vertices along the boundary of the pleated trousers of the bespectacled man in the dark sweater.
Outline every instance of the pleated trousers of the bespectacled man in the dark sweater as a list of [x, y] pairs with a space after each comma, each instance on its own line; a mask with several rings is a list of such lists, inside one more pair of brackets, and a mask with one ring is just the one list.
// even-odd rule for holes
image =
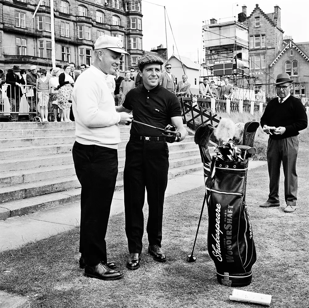
[[284, 197], [287, 205], [296, 206], [297, 174], [296, 160], [298, 153], [298, 136], [279, 140], [269, 138], [267, 146], [267, 163], [269, 173], [268, 202], [279, 202], [279, 180], [282, 162], [284, 173]]

